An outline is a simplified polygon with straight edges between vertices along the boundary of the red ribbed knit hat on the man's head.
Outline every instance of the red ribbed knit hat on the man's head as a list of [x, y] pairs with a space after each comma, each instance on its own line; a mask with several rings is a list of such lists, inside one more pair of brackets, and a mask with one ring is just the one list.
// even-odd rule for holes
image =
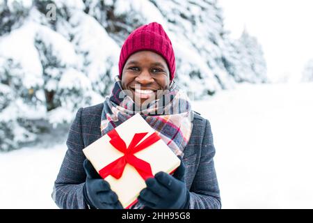
[[141, 50], [150, 50], [163, 56], [170, 70], [170, 80], [174, 79], [176, 68], [172, 43], [161, 24], [157, 22], [138, 27], [125, 40], [118, 63], [120, 78], [122, 78], [122, 70], [129, 56]]

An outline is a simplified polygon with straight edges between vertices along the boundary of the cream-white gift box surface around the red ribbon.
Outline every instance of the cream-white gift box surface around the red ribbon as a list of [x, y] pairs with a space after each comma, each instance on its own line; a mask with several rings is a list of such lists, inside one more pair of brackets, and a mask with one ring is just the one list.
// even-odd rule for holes
[[[138, 113], [120, 124], [115, 130], [120, 135], [120, 138], [125, 141], [126, 146], [129, 146], [135, 133], [147, 132], [145, 137], [141, 139], [141, 141], [143, 141], [155, 132]], [[111, 138], [108, 134], [105, 134], [97, 141], [94, 141], [93, 144], [83, 149], [83, 153], [86, 155], [87, 159], [90, 160], [98, 173], [108, 164], [111, 164], [111, 162], [125, 155], [113, 147], [109, 142], [110, 140]], [[141, 141], [138, 144], [140, 144]], [[153, 175], [157, 174], [159, 171], [170, 174], [175, 171], [180, 164], [179, 158], [162, 139], [159, 139], [159, 141], [142, 151], [134, 153], [134, 155], [150, 164]], [[128, 163], [119, 179], [109, 175], [106, 176], [104, 180], [108, 181], [111, 185], [111, 190], [118, 194], [118, 199], [120, 203], [122, 203], [123, 208], [129, 208], [136, 203], [139, 193], [146, 187], [145, 180], [138, 174], [138, 171]]]

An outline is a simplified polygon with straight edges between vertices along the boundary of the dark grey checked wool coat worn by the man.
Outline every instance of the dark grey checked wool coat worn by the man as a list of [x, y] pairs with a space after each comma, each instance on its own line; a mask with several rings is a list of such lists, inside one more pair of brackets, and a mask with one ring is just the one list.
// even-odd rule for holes
[[[101, 137], [103, 104], [80, 108], [70, 127], [61, 169], [54, 183], [52, 198], [59, 208], [88, 208], [83, 200], [86, 174], [83, 148]], [[220, 191], [214, 168], [215, 148], [207, 119], [194, 112], [193, 130], [184, 150], [186, 185], [190, 192], [188, 208], [220, 208]]]

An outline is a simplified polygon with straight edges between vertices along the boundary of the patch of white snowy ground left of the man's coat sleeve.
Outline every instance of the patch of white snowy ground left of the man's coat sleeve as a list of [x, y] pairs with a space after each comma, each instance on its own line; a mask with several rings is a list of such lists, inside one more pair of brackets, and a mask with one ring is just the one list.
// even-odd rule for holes
[[58, 208], [51, 192], [64, 155], [64, 145], [1, 154], [0, 208]]

